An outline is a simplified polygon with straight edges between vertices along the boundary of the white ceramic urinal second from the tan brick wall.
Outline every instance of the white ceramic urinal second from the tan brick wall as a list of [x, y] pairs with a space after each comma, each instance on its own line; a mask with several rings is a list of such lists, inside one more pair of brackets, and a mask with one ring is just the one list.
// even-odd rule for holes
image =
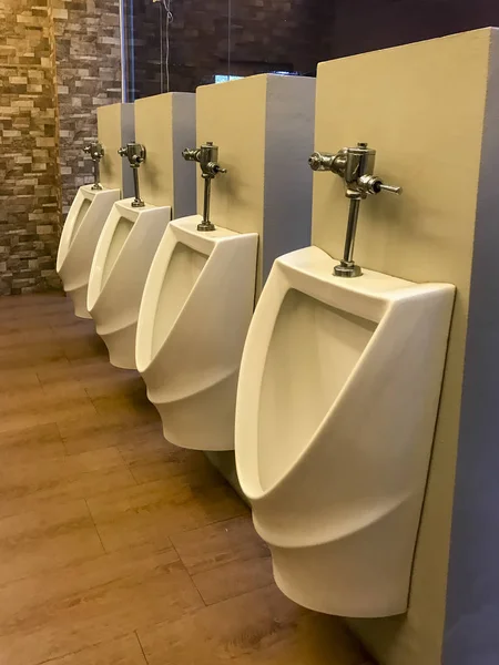
[[86, 306], [112, 365], [135, 368], [139, 309], [154, 254], [171, 219], [170, 206], [114, 204], [90, 273]]

